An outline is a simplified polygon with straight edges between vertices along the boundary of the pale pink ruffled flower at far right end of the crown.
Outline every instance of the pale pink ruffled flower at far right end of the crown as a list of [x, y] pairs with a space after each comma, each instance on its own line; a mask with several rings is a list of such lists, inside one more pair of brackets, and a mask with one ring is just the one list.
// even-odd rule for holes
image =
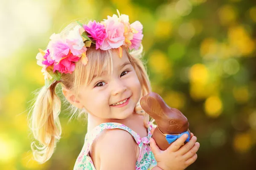
[[139, 49], [140, 47], [140, 43], [141, 40], [143, 38], [143, 34], [142, 34], [142, 29], [143, 26], [140, 23], [140, 21], [135, 21], [134, 23], [131, 24], [131, 28], [135, 29], [134, 31], [134, 35], [133, 35], [133, 39], [131, 40], [131, 46], [129, 47], [129, 49]]

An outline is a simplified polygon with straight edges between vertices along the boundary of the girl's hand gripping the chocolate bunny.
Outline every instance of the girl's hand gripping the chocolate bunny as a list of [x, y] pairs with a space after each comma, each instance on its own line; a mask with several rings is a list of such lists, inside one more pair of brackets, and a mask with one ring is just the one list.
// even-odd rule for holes
[[[197, 159], [196, 152], [200, 144], [191, 133], [192, 138], [185, 145], [187, 134], [182, 135], [165, 151], [160, 150], [153, 138], [150, 138], [150, 147], [157, 161], [157, 166], [163, 170], [184, 170]], [[182, 146], [183, 145], [183, 146]]]

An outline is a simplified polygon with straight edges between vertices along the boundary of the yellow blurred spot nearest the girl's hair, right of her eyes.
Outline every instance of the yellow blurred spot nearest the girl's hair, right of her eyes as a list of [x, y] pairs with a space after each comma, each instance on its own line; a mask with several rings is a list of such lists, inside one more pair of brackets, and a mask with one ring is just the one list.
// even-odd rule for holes
[[166, 78], [172, 76], [172, 65], [168, 61], [166, 54], [160, 50], [155, 50], [151, 53], [148, 64], [151, 70], [157, 74], [162, 74], [166, 76]]

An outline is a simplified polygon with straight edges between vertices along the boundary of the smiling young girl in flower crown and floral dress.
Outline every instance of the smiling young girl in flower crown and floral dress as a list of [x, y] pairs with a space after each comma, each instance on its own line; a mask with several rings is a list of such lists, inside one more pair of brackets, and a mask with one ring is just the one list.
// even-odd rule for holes
[[87, 113], [87, 134], [74, 170], [183, 170], [197, 159], [199, 143], [193, 134], [184, 146], [186, 134], [165, 151], [151, 138], [155, 125], [139, 104], [151, 92], [140, 60], [142, 29], [139, 21], [130, 24], [118, 12], [101, 23], [70, 24], [50, 37], [46, 50], [39, 49], [45, 86], [31, 118], [42, 145], [32, 147], [38, 162], [52, 156], [61, 137], [58, 83], [73, 109]]

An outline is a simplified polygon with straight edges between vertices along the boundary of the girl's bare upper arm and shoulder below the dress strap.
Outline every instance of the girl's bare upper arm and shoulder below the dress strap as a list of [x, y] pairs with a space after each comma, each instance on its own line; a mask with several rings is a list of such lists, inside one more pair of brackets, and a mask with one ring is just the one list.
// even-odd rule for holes
[[94, 148], [97, 170], [135, 170], [139, 147], [125, 130], [106, 130]]

